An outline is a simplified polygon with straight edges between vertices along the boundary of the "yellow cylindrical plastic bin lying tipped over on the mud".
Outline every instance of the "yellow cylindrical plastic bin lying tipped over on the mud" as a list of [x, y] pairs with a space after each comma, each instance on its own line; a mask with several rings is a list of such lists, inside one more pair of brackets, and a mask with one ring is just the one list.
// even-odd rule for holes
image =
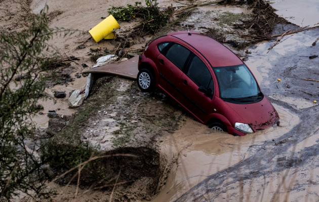
[[115, 35], [112, 32], [113, 29], [118, 29], [119, 24], [115, 20], [115, 18], [112, 15], [109, 15], [107, 18], [102, 20], [99, 24], [97, 24], [95, 27], [93, 27], [89, 33], [91, 34], [92, 38], [99, 42], [103, 38], [105, 39], [111, 39], [114, 38]]

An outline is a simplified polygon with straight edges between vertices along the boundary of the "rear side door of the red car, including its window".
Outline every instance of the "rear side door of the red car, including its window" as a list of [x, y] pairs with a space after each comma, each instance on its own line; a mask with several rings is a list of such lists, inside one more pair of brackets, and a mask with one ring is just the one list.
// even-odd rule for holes
[[157, 45], [161, 52], [155, 62], [158, 73], [160, 74], [159, 84], [164, 91], [179, 100], [181, 95], [178, 86], [180, 78], [184, 74], [182, 70], [190, 55], [190, 51], [175, 42], [170, 42], [170, 44], [163, 47], [165, 43], [167, 42]]

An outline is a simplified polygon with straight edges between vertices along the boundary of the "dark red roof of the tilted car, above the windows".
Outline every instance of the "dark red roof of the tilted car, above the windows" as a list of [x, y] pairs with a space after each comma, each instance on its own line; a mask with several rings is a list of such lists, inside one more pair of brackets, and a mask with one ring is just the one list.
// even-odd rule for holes
[[179, 38], [200, 52], [212, 67], [241, 65], [243, 61], [218, 41], [195, 31], [179, 31], [167, 36]]

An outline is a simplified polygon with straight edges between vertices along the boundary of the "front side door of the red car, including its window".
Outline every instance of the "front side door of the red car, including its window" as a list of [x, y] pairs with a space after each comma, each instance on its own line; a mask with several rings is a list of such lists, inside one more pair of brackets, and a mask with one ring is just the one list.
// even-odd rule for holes
[[182, 75], [179, 89], [183, 105], [201, 122], [212, 112], [214, 82], [211, 71], [196, 55], [192, 55]]

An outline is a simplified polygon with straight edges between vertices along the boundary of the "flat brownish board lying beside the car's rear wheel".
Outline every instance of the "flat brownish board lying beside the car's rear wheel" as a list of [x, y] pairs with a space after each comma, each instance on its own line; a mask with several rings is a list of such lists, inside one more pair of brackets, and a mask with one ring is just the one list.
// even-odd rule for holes
[[130, 60], [95, 67], [84, 73], [107, 73], [135, 80], [138, 74], [138, 56], [135, 56]]

